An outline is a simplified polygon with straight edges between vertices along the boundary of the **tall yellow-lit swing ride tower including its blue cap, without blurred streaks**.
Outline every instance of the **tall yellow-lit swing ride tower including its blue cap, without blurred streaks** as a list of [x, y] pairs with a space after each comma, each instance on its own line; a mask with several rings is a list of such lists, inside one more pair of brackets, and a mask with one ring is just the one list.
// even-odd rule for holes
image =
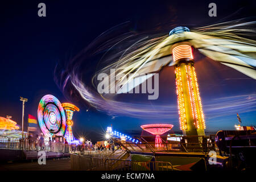
[[205, 135], [204, 113], [199, 94], [192, 48], [188, 42], [180, 42], [187, 27], [176, 27], [169, 35], [175, 35], [177, 42], [172, 46], [175, 67], [177, 104], [180, 129], [183, 135]]

